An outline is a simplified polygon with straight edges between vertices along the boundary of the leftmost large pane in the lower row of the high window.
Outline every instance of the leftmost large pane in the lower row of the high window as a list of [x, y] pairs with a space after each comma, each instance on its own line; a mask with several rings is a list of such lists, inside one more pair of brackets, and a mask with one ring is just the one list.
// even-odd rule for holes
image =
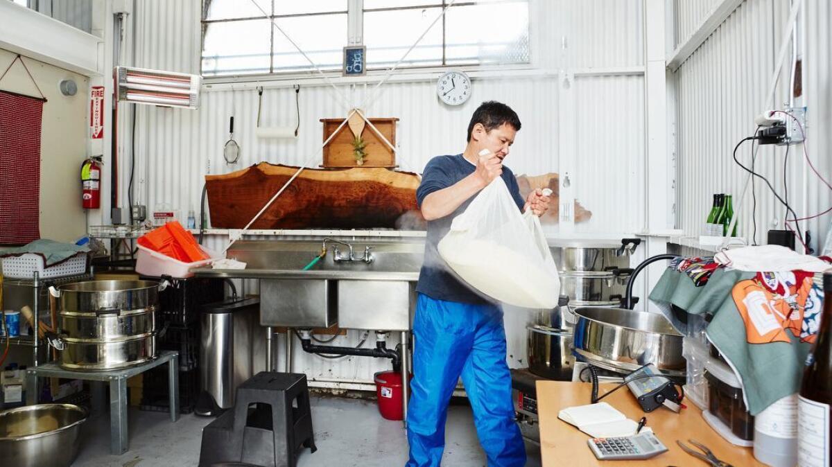
[[203, 76], [269, 72], [269, 20], [213, 22], [206, 26]]

